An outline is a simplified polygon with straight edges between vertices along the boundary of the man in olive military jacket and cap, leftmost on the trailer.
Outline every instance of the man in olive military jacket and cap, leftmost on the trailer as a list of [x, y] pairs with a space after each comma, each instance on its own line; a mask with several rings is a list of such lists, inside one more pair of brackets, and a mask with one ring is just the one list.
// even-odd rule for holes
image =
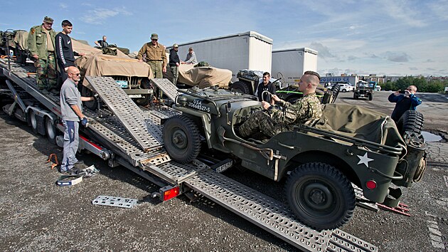
[[56, 88], [55, 36], [51, 28], [53, 19], [46, 16], [40, 26], [33, 26], [28, 33], [28, 49], [36, 66], [38, 88]]

